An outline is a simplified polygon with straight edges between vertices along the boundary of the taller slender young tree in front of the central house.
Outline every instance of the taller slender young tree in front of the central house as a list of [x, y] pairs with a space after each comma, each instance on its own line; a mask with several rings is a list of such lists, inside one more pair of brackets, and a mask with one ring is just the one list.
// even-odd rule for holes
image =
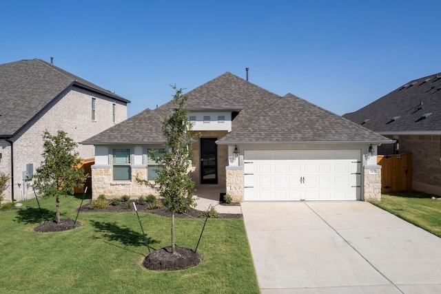
[[192, 123], [187, 117], [185, 109], [185, 101], [187, 96], [182, 94], [183, 89], [176, 89], [176, 85], [172, 86], [176, 91], [174, 94], [173, 114], [166, 118], [163, 122], [162, 132], [165, 136], [165, 150], [154, 150], [150, 152], [151, 158], [158, 163], [156, 172], [158, 177], [154, 180], [154, 184], [146, 180], [139, 180], [146, 185], [150, 185], [158, 190], [159, 196], [163, 197], [164, 206], [172, 213], [172, 251], [175, 250], [174, 240], [174, 213], [188, 211], [189, 207], [196, 206], [194, 202], [194, 182], [187, 176], [189, 162], [194, 156], [191, 148]]

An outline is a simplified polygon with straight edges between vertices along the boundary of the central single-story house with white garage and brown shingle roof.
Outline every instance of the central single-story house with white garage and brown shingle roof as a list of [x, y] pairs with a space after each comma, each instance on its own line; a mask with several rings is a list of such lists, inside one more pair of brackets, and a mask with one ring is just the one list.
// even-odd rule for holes
[[[236, 201], [380, 199], [374, 152], [392, 140], [229, 72], [186, 95], [201, 134], [189, 172], [196, 189], [213, 187]], [[145, 109], [83, 142], [95, 145], [92, 198], [154, 193], [136, 177], [154, 180], [148, 150], [164, 148], [161, 124], [174, 107]]]

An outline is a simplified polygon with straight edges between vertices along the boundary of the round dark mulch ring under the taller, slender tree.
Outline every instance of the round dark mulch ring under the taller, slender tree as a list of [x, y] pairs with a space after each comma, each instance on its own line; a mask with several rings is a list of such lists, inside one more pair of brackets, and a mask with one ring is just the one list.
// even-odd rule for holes
[[154, 271], [178, 271], [196, 266], [202, 260], [192, 249], [175, 246], [175, 251], [173, 254], [172, 246], [155, 250], [145, 258], [143, 266]]

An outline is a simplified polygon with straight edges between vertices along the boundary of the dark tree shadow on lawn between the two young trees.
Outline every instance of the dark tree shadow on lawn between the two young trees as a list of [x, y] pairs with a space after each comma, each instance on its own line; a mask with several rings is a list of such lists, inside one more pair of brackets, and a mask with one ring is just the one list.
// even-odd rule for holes
[[[131, 229], [120, 227], [115, 222], [96, 222], [94, 220], [90, 221], [95, 227], [95, 231], [103, 233], [103, 238], [107, 238], [110, 241], [121, 242], [125, 246], [146, 246], [143, 234]], [[147, 238], [148, 248], [153, 249], [152, 244], [157, 244], [158, 241], [150, 237]]]

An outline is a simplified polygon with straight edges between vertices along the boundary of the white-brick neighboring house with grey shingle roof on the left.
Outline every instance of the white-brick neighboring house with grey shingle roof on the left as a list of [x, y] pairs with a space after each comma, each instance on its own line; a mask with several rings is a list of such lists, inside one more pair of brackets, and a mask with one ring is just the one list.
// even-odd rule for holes
[[[34, 195], [28, 184], [43, 153], [43, 131], [76, 142], [127, 118], [127, 101], [39, 59], [0, 65], [0, 172], [12, 177], [6, 200]], [[81, 158], [94, 148], [79, 145]]]

